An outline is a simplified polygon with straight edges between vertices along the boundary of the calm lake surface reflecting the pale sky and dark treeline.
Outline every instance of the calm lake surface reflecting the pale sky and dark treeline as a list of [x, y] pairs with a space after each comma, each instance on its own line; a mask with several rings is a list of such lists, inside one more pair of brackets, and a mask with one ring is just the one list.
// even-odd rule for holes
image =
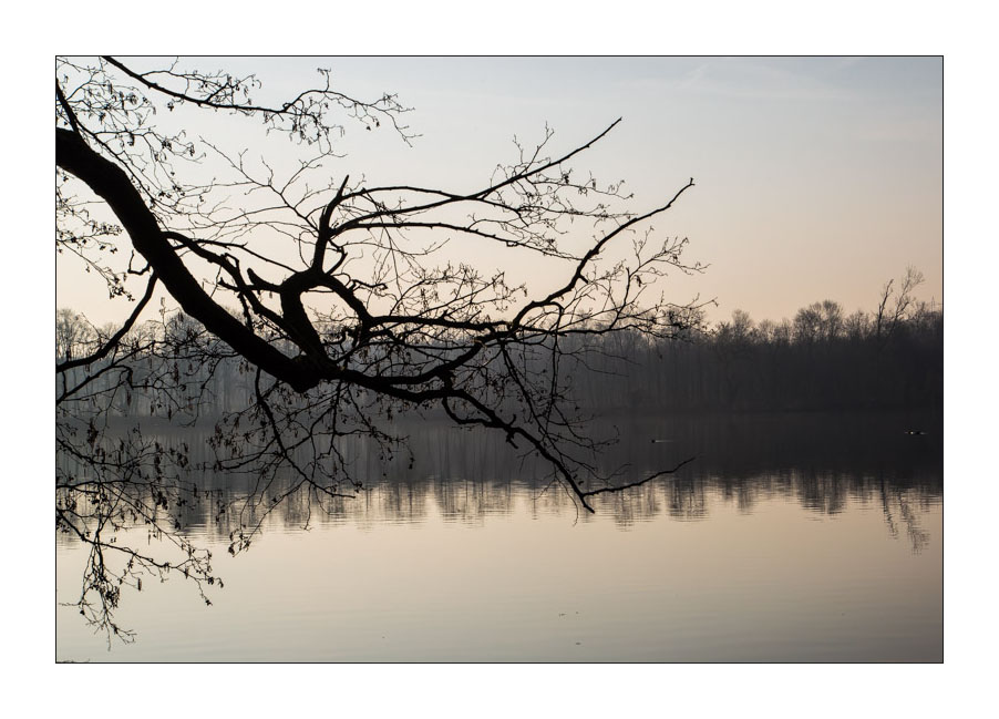
[[[412, 470], [360, 446], [369, 491], [332, 514], [282, 505], [235, 558], [229, 527], [193, 514], [225, 581], [213, 606], [179, 577], [126, 590], [137, 638], [110, 650], [58, 607], [56, 659], [943, 660], [939, 417], [614, 424], [622, 481], [698, 460], [589, 515], [502, 441], [414, 425]], [[56, 602], [83, 561], [56, 537]]]

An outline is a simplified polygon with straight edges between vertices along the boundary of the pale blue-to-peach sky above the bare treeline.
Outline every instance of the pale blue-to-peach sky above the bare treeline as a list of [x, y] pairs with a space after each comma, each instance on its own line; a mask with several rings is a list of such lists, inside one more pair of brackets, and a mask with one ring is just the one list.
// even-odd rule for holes
[[[186, 62], [186, 61], [185, 61]], [[387, 129], [347, 124], [346, 156], [331, 175], [370, 184], [466, 192], [484, 186], [513, 138], [534, 143], [554, 129], [552, 153], [576, 147], [622, 119], [576, 163], [601, 181], [626, 181], [632, 207], [662, 204], [696, 186], [652, 223], [688, 237], [684, 259], [700, 275], [660, 280], [667, 298], [715, 300], [709, 319], [739, 308], [756, 320], [793, 317], [834, 299], [871, 310], [885, 281], [907, 266], [917, 291], [943, 302], [943, 61], [939, 58], [210, 58], [193, 66], [256, 73], [255, 100], [280, 100], [332, 70], [358, 97], [395, 93], [413, 109], [408, 146]], [[257, 125], [185, 119], [190, 134], [261, 148]], [[271, 142], [271, 163], [293, 152]], [[275, 156], [277, 151], [277, 156]], [[262, 148], [261, 148], [262, 152]], [[290, 166], [290, 165], [289, 165]], [[468, 248], [484, 270], [499, 260]], [[553, 271], [521, 263], [528, 287]], [[137, 288], [138, 289], [138, 288]], [[140, 292], [141, 294], [141, 292]], [[121, 321], [93, 276], [56, 265], [56, 304], [92, 321]], [[152, 305], [158, 307], [158, 301]]]

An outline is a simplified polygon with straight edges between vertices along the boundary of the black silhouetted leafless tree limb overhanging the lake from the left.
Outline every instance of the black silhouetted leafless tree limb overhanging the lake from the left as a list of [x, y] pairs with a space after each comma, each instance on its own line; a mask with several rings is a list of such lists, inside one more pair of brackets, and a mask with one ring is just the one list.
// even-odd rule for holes
[[[369, 186], [327, 165], [339, 161], [344, 122], [414, 140], [403, 124], [409, 110], [394, 95], [347, 96], [323, 71], [321, 88], [258, 104], [254, 76], [186, 70], [179, 61], [140, 64], [150, 63], [60, 59], [56, 69], [56, 248], [81, 257], [112, 297], [134, 301], [130, 278], [146, 281], [117, 332], [56, 364], [58, 373], [73, 373], [58, 400], [65, 419], [59, 452], [87, 468], [60, 474], [56, 524], [94, 549], [80, 603], [92, 620], [109, 620], [114, 583], [141, 582], [136, 568], [215, 582], [210, 557], [159, 518], [184, 492], [197, 496], [183, 479], [185, 459], [167, 458], [172, 471], [161, 460], [147, 476], [134, 456], [164, 453], [140, 434], [110, 450], [100, 424], [107, 398], [136, 387], [178, 408], [196, 404], [198, 388], [192, 393], [184, 367], [198, 369], [202, 391], [206, 367], [210, 374], [239, 361], [251, 372], [253, 401], [219, 422], [213, 444], [217, 469], [259, 477], [259, 502], [307, 492], [321, 505], [351, 494], [357, 480], [338, 440], [360, 434], [398, 451], [403, 438], [379, 420], [401, 411], [442, 411], [456, 425], [501, 432], [542, 458], [552, 482], [587, 511], [593, 496], [651, 479], [600, 475], [593, 461], [600, 444], [566, 402], [579, 338], [669, 338], [701, 317], [696, 300], [655, 294], [668, 271], [702, 267], [682, 258], [686, 238], [659, 239], [650, 226], [693, 181], [636, 210], [621, 183], [601, 184], [574, 167], [620, 121], [559, 152], [549, 150], [546, 129], [536, 145], [517, 143], [513, 161], [477, 188]], [[282, 176], [159, 122], [186, 112], [255, 120], [311, 154]], [[575, 249], [579, 238], [587, 244]], [[560, 278], [540, 292], [508, 283], [476, 264], [486, 246], [519, 261], [544, 258], [560, 267]], [[115, 266], [117, 253], [130, 256], [126, 267]], [[164, 310], [154, 329], [142, 330], [157, 286], [187, 319]], [[138, 372], [136, 361], [147, 358], [156, 362]], [[280, 492], [279, 474], [295, 477]], [[126, 496], [135, 485], [143, 491]], [[153, 558], [105, 536], [136, 517], [173, 537], [181, 559]], [[253, 532], [235, 533], [230, 548], [246, 546]], [[101, 555], [111, 552], [127, 559], [116, 577], [102, 568]]]

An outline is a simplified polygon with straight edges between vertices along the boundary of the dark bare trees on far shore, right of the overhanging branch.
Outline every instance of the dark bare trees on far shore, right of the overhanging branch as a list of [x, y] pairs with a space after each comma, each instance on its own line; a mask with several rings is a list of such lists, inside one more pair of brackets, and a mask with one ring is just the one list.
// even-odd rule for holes
[[593, 371], [574, 380], [581, 404], [648, 410], [943, 409], [944, 315], [919, 305], [899, 317], [834, 301], [794, 320], [730, 321], [686, 341], [607, 336]]

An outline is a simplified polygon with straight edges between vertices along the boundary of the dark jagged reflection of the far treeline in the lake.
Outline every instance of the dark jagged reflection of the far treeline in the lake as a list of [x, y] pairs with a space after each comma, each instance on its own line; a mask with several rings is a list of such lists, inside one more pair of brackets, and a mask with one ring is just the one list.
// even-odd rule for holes
[[[920, 419], [923, 427], [933, 427], [931, 418]], [[674, 418], [629, 419], [618, 427], [605, 421], [603, 429], [608, 434], [617, 432], [619, 442], [596, 461], [603, 472], [617, 471], [618, 481], [642, 479], [684, 454], [699, 459], [676, 475], [595, 500], [599, 514], [612, 516], [620, 526], [663, 515], [706, 518], [717, 501], [751, 513], [758, 504], [782, 497], [825, 515], [843, 512], [852, 502], [869, 503], [882, 509], [892, 536], [904, 531], [919, 551], [929, 540], [920, 516], [943, 499], [943, 446], [939, 433], [905, 435], [898, 429], [903, 420]], [[363, 438], [348, 438], [343, 454], [365, 484], [356, 497], [302, 490], [276, 506], [274, 499], [286, 489], [280, 483], [261, 492], [254, 477], [214, 472], [206, 433], [164, 430], [156, 441], [164, 446], [186, 443], [192, 466], [208, 468], [185, 477], [196, 484], [197, 492], [162, 507], [164, 520], [169, 515], [182, 532], [217, 538], [256, 527], [271, 510], [269, 521], [288, 527], [328, 522], [371, 527], [383, 522], [422, 522], [432, 513], [474, 525], [491, 514], [522, 506], [533, 515], [594, 521], [577, 516], [571, 497], [549, 484], [542, 465], [495, 436], [435, 423], [400, 422], [392, 429], [409, 436], [412, 463], [409, 455], [380, 461]]]

